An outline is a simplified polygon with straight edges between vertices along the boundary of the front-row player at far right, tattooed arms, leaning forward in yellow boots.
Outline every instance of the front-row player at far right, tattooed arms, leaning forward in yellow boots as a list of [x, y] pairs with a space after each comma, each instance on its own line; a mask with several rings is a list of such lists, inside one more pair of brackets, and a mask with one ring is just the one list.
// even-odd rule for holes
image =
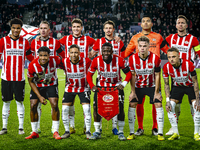
[[[168, 140], [179, 139], [177, 119], [175, 114], [175, 106], [182, 101], [183, 95], [187, 94], [190, 103], [194, 109], [194, 139], [200, 141], [199, 125], [200, 125], [200, 102], [199, 102], [199, 86], [195, 66], [191, 61], [180, 59], [179, 50], [171, 48], [167, 51], [169, 62], [163, 67], [163, 78], [165, 82], [166, 94], [166, 110], [168, 118], [174, 131]], [[173, 79], [173, 88], [169, 88], [169, 75]]]

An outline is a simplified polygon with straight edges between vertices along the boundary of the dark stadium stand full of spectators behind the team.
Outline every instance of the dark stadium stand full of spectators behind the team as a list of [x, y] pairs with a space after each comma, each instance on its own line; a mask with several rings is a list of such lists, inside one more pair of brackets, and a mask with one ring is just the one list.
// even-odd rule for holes
[[[1, 0], [0, 7], [0, 37], [9, 33], [8, 22], [14, 17], [32, 26], [49, 21], [50, 35], [57, 39], [72, 33], [75, 17], [83, 20], [83, 34], [95, 39], [104, 36], [103, 23], [111, 19], [116, 24], [116, 35], [127, 46], [141, 31], [140, 21], [145, 14], [152, 16], [152, 30], [163, 38], [176, 33], [175, 20], [183, 14], [189, 19], [188, 32], [200, 40], [198, 0]], [[161, 58], [166, 59], [166, 55], [161, 54]]]

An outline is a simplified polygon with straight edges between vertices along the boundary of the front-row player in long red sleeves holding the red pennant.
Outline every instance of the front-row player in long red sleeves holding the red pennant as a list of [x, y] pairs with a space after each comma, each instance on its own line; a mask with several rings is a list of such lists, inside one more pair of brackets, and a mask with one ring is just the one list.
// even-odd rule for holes
[[[126, 74], [125, 80], [121, 81], [120, 70]], [[95, 86], [92, 82], [92, 76], [95, 71], [98, 70], [98, 82]], [[92, 91], [95, 92], [94, 95], [94, 127], [95, 132], [90, 139], [95, 140], [101, 138], [100, 134], [100, 120], [101, 116], [97, 113], [97, 87], [117, 87], [119, 90], [119, 115], [118, 115], [118, 126], [119, 126], [119, 135], [120, 140], [125, 140], [123, 134], [124, 129], [124, 92], [123, 88], [131, 79], [131, 72], [129, 67], [126, 66], [125, 60], [117, 55], [113, 54], [113, 47], [110, 43], [104, 43], [102, 45], [102, 55], [94, 58], [92, 61], [91, 67], [87, 74], [87, 81], [92, 88]]]

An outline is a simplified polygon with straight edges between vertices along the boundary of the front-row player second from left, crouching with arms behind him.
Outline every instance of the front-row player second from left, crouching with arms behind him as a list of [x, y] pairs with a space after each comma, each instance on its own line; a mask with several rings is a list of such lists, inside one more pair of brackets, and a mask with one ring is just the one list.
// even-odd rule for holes
[[78, 45], [71, 45], [69, 56], [62, 60], [63, 69], [66, 74], [66, 87], [62, 101], [62, 120], [65, 127], [65, 133], [62, 138], [70, 136], [69, 132], [69, 111], [73, 106], [76, 95], [79, 96], [83, 106], [86, 125], [86, 137], [91, 136], [91, 113], [90, 113], [90, 89], [86, 81], [86, 75], [91, 64], [89, 58], [80, 57], [80, 48]]

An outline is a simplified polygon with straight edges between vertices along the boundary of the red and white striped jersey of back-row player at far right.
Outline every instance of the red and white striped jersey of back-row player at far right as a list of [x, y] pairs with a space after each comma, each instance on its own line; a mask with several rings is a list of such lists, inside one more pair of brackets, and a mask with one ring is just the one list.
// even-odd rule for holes
[[170, 47], [176, 47], [179, 50], [182, 59], [194, 61], [195, 52], [200, 56], [199, 41], [189, 33], [185, 36], [179, 36], [178, 33], [171, 34], [165, 40]]

